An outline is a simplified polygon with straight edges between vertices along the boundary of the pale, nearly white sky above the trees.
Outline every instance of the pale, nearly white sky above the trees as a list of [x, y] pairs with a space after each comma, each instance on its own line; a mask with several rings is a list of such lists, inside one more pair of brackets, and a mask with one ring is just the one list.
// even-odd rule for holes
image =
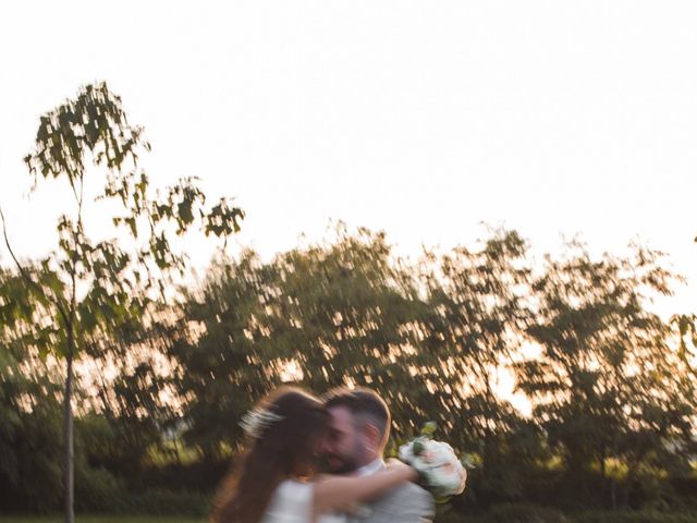
[[0, 205], [17, 252], [51, 246], [65, 199], [25, 199], [22, 157], [41, 112], [105, 80], [152, 182], [235, 196], [236, 242], [267, 256], [330, 219], [405, 254], [481, 221], [538, 253], [638, 239], [692, 282], [663, 311], [695, 312], [695, 27], [694, 1], [3, 2]]

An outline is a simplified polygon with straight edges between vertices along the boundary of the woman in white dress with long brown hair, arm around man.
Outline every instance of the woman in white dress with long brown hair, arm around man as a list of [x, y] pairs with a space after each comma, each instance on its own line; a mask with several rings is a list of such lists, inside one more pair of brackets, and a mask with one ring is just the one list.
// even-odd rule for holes
[[320, 476], [329, 413], [315, 397], [283, 388], [243, 419], [246, 453], [223, 481], [212, 523], [332, 523], [360, 501], [416, 481], [414, 469], [390, 463], [367, 477]]

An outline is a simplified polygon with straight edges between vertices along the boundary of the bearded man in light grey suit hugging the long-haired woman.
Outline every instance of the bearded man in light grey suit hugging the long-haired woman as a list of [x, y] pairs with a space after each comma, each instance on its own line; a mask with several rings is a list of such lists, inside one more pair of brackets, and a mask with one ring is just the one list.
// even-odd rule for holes
[[[384, 467], [382, 452], [390, 436], [390, 411], [375, 391], [333, 389], [325, 396], [331, 413], [325, 458], [333, 474], [369, 475]], [[433, 498], [406, 483], [362, 508], [351, 521], [420, 523], [433, 519]]]

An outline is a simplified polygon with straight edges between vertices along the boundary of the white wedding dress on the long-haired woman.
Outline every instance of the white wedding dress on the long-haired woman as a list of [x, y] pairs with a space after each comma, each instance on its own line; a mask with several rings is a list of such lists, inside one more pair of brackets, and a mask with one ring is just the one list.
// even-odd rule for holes
[[326, 514], [313, 522], [314, 485], [296, 479], [281, 483], [273, 496], [261, 523], [345, 523], [340, 514]]

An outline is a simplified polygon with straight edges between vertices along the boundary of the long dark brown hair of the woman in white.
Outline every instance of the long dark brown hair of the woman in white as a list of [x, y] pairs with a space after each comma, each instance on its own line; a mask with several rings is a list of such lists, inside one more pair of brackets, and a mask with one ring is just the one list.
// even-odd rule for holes
[[323, 403], [301, 389], [285, 387], [256, 409], [281, 419], [248, 438], [247, 450], [218, 491], [211, 523], [258, 523], [281, 482], [315, 473], [316, 450], [329, 422]]

